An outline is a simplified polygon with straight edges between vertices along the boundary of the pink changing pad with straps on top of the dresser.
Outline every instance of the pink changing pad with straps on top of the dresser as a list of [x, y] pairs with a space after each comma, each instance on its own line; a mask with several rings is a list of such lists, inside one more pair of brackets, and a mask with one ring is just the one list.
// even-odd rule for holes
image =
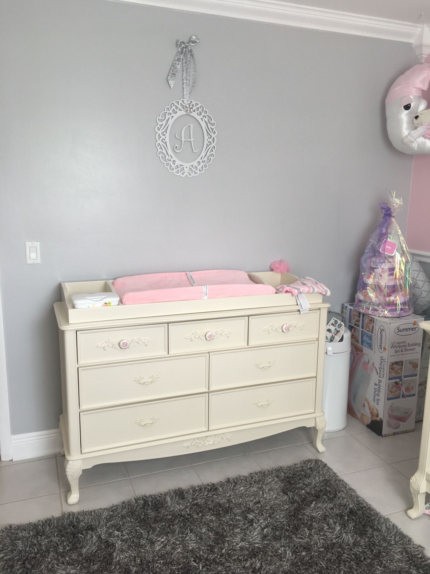
[[271, 285], [253, 283], [244, 271], [222, 269], [190, 274], [196, 285], [191, 285], [185, 272], [120, 277], [112, 281], [112, 285], [124, 305], [276, 293]]

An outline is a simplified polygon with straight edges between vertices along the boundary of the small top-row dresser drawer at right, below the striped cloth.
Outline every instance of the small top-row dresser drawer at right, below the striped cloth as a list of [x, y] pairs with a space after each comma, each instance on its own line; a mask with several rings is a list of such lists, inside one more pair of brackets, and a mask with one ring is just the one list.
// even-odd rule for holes
[[269, 345], [318, 338], [319, 311], [249, 317], [249, 344]]

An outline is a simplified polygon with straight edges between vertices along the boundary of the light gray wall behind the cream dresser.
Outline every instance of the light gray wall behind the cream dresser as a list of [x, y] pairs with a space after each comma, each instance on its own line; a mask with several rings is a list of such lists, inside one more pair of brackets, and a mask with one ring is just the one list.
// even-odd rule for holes
[[[206, 173], [155, 150], [177, 38], [196, 33], [194, 96], [217, 123]], [[107, 0], [3, 0], [1, 252], [12, 432], [61, 411], [52, 304], [60, 281], [267, 269], [284, 257], [355, 291], [358, 260], [412, 156], [385, 135], [384, 96], [408, 44]], [[40, 241], [41, 265], [26, 265]]]

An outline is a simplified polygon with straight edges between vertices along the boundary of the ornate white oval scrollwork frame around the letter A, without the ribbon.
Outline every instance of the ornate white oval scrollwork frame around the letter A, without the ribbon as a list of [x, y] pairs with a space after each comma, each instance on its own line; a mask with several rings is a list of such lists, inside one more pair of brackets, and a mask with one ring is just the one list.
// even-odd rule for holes
[[[192, 162], [185, 163], [174, 156], [169, 143], [170, 128], [175, 119], [181, 115], [192, 115], [200, 123], [204, 134], [204, 145], [200, 156]], [[181, 177], [198, 176], [203, 173], [215, 156], [217, 130], [212, 115], [202, 104], [194, 100], [175, 100], [166, 106], [157, 118], [157, 156], [169, 170]]]

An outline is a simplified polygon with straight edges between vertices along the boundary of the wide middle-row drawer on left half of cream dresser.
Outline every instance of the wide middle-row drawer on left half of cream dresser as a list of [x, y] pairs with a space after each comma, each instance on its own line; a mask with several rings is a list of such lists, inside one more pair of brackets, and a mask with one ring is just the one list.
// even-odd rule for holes
[[81, 409], [208, 390], [209, 355], [79, 368]]

